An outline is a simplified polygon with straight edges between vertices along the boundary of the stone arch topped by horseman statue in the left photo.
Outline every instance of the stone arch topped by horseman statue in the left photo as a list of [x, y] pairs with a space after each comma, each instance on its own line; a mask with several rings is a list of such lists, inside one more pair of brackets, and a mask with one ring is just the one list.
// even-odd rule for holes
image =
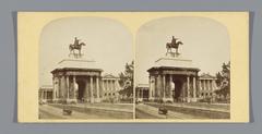
[[[84, 42], [69, 46], [70, 54], [61, 60], [51, 71], [53, 101], [62, 102], [100, 102], [103, 97], [102, 72], [94, 60], [81, 53]], [[75, 50], [79, 50], [75, 52]]]

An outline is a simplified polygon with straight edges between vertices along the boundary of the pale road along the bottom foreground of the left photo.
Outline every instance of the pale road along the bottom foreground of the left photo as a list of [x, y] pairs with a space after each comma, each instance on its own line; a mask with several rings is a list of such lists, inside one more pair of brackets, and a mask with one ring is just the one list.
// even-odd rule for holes
[[43, 105], [39, 107], [40, 119], [111, 119], [108, 115], [97, 115], [73, 111], [71, 115], [64, 115], [61, 108]]

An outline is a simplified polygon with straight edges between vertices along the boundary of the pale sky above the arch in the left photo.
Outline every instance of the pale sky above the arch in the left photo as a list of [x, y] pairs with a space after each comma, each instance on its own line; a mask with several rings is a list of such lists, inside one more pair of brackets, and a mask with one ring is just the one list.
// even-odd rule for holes
[[69, 54], [74, 37], [86, 46], [84, 57], [117, 75], [133, 60], [132, 35], [121, 23], [104, 17], [66, 17], [47, 24], [39, 40], [39, 84], [51, 85], [51, 71]]

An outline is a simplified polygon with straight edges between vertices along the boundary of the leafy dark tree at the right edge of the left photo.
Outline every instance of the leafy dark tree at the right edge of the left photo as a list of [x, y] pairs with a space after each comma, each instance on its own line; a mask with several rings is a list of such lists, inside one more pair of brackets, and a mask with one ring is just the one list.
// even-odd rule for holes
[[119, 85], [123, 87], [119, 92], [120, 95], [127, 95], [128, 97], [133, 95], [133, 70], [134, 62], [131, 61], [131, 63], [126, 63], [124, 71], [119, 73]]

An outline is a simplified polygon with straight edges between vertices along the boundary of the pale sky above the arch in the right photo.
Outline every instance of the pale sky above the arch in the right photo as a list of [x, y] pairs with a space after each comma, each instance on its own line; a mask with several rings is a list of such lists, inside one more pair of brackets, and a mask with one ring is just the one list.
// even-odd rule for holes
[[182, 57], [191, 59], [201, 73], [215, 75], [223, 62], [230, 59], [230, 40], [227, 28], [206, 17], [165, 17], [140, 27], [135, 40], [135, 81], [147, 84], [147, 70], [166, 53], [171, 36], [179, 38]]

